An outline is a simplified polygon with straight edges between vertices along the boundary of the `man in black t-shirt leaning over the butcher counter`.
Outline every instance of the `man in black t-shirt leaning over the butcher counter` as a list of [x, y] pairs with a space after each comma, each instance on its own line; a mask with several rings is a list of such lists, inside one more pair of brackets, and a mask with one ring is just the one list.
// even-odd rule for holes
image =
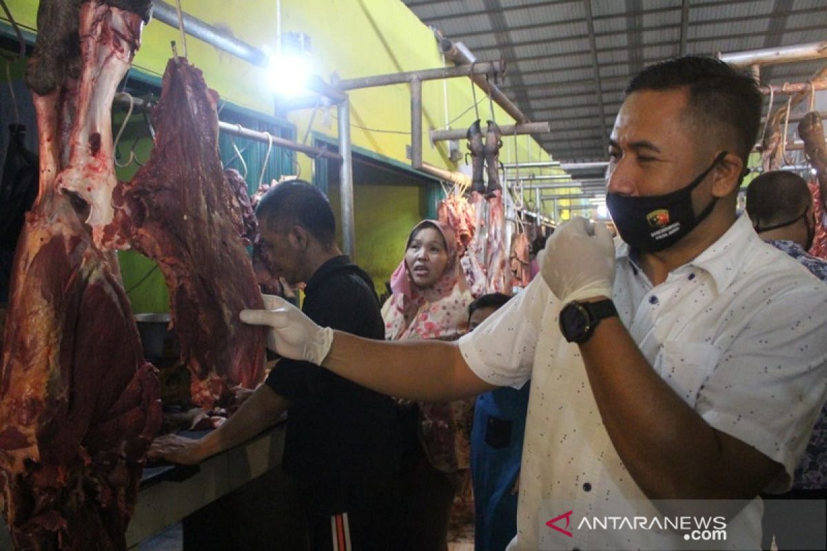
[[[258, 254], [287, 283], [306, 283], [307, 316], [384, 338], [373, 282], [337, 249], [333, 213], [322, 192], [299, 180], [280, 183], [262, 197], [256, 216]], [[400, 449], [394, 402], [312, 363], [280, 359], [218, 430], [200, 440], [156, 439], [150, 457], [198, 463], [256, 435], [284, 411], [283, 468], [298, 490], [310, 549], [390, 549], [391, 485]]]

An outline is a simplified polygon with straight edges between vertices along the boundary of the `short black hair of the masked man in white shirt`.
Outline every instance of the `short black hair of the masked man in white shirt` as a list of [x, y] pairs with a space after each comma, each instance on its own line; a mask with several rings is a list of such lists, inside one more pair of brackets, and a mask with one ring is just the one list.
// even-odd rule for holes
[[735, 69], [720, 59], [685, 55], [649, 65], [632, 78], [626, 94], [638, 90], [686, 88], [689, 113], [699, 129], [724, 126], [737, 140], [734, 153], [747, 166], [749, 152], [758, 138], [762, 96], [752, 74]]

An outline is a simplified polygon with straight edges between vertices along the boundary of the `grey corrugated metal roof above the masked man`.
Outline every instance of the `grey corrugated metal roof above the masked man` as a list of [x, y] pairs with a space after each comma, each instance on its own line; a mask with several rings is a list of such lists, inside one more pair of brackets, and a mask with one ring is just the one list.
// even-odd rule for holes
[[[562, 161], [605, 159], [629, 78], [681, 54], [758, 50], [827, 40], [825, 0], [403, 0], [422, 21], [482, 61], [504, 59], [501, 87]], [[594, 32], [597, 67], [591, 50]], [[765, 67], [763, 83], [802, 82], [824, 66]], [[595, 77], [600, 77], [600, 97]], [[601, 120], [600, 99], [605, 118]]]

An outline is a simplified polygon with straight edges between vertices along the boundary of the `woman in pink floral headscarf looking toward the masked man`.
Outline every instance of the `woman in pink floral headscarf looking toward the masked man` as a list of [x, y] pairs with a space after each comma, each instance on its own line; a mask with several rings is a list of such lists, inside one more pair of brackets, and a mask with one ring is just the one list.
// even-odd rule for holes
[[[454, 340], [466, 332], [471, 296], [453, 230], [434, 220], [411, 231], [382, 308], [385, 339]], [[428, 361], [428, 359], [423, 359]], [[448, 518], [469, 465], [473, 400], [401, 404], [405, 453], [396, 516], [398, 549], [447, 549]]]

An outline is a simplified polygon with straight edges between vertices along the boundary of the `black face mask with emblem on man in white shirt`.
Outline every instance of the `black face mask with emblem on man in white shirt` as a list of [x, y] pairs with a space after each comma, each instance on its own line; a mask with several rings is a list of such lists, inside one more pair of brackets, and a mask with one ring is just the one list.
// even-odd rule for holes
[[694, 230], [706, 216], [710, 216], [718, 198], [713, 197], [710, 204], [696, 216], [692, 210], [692, 190], [726, 154], [722, 151], [710, 167], [689, 185], [671, 193], [644, 197], [606, 193], [606, 207], [621, 239], [631, 247], [654, 253], [675, 245]]

